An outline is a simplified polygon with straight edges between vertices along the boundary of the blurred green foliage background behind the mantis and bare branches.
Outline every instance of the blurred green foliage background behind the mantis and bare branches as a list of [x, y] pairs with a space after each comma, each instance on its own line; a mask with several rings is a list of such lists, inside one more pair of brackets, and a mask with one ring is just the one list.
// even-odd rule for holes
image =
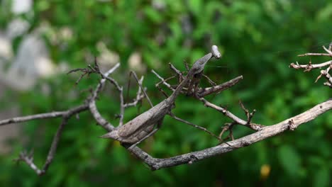
[[[205, 69], [222, 83], [238, 75], [243, 81], [209, 101], [245, 118], [238, 105], [257, 110], [253, 121], [272, 125], [331, 97], [331, 89], [314, 84], [318, 71], [289, 69], [307, 63], [305, 52], [323, 52], [331, 42], [332, 3], [328, 1], [0, 1], [1, 112], [16, 115], [61, 111], [84, 102], [97, 76], [67, 75], [87, 67], [94, 56], [104, 67], [121, 62], [113, 75], [128, 83], [129, 70], [144, 75], [153, 103], [164, 98], [151, 72], [170, 77], [171, 62], [184, 69], [218, 45], [221, 60]], [[2, 47], [2, 48], [1, 48]], [[23, 55], [23, 56], [22, 56]], [[20, 62], [21, 60], [21, 62]], [[326, 57], [312, 57], [325, 62]], [[13, 68], [15, 67], [15, 68]], [[10, 73], [11, 72], [11, 73]], [[128, 100], [137, 86], [130, 86]], [[175, 82], [174, 82], [175, 84]], [[207, 86], [202, 83], [202, 86]], [[102, 115], [117, 124], [119, 101], [108, 85], [97, 103]], [[125, 120], [148, 109], [143, 101], [129, 108]], [[218, 133], [230, 120], [180, 96], [175, 113]], [[1, 115], [9, 118], [13, 113]], [[332, 168], [331, 113], [301, 125], [294, 132], [258, 142], [211, 159], [150, 171], [118, 142], [100, 139], [104, 130], [88, 113], [65, 127], [55, 159], [39, 177], [26, 164], [13, 162], [23, 149], [34, 149], [42, 166], [60, 119], [17, 126], [3, 142], [1, 186], [329, 186]], [[9, 134], [0, 127], [2, 134]], [[234, 129], [235, 137], [253, 131]], [[4, 136], [4, 135], [1, 135]], [[204, 132], [166, 117], [162, 129], [140, 145], [154, 157], [172, 157], [216, 145]]]

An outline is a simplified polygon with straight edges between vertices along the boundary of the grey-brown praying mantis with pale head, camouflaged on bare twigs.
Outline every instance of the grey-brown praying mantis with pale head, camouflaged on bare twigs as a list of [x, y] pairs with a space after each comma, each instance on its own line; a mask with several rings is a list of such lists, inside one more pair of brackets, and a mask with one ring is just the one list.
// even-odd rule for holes
[[[133, 120], [128, 121], [128, 123], [121, 125], [101, 137], [112, 138], [121, 143], [133, 144], [131, 147], [134, 147], [153, 135], [162, 125], [162, 120], [165, 115], [170, 115], [170, 111], [175, 107], [175, 99], [179, 96], [184, 86], [186, 86], [194, 76], [202, 74], [206, 62], [208, 62], [211, 57], [215, 57], [216, 59], [221, 57], [221, 53], [218, 51], [216, 45], [211, 47], [211, 52], [194, 62], [192, 68], [189, 69], [187, 76], [179, 83], [172, 95], [158, 103], [156, 106], [153, 106], [148, 111], [133, 118]], [[192, 86], [189, 85], [189, 87]]]

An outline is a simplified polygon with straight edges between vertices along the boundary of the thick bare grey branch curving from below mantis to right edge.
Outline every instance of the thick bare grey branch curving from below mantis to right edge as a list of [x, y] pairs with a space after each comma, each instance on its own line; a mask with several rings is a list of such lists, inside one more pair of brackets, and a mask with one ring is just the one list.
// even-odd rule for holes
[[238, 149], [240, 147], [246, 147], [248, 145], [252, 145], [255, 142], [259, 142], [262, 140], [267, 139], [268, 137], [272, 137], [275, 135], [284, 132], [285, 130], [294, 130], [299, 125], [309, 122], [313, 120], [318, 115], [325, 113], [332, 109], [332, 99], [320, 103], [319, 105], [314, 106], [313, 108], [296, 115], [292, 118], [284, 120], [280, 123], [275, 125], [267, 126], [262, 128], [262, 130], [255, 132], [253, 134], [247, 135], [245, 137], [241, 137], [237, 140], [233, 140], [231, 142], [226, 142], [216, 147], [210, 147], [207, 149], [202, 149], [201, 151], [197, 152], [190, 152], [187, 154], [181, 154], [176, 157], [170, 157], [167, 159], [155, 159], [153, 157], [148, 157], [148, 155], [140, 152], [137, 148], [135, 148], [135, 152], [137, 152], [137, 156], [142, 159], [151, 169], [161, 169], [170, 166], [177, 166], [180, 164], [192, 164], [201, 159], [206, 159], [209, 157], [213, 157], [217, 154], [223, 154], [226, 152], [231, 152], [234, 149]]

